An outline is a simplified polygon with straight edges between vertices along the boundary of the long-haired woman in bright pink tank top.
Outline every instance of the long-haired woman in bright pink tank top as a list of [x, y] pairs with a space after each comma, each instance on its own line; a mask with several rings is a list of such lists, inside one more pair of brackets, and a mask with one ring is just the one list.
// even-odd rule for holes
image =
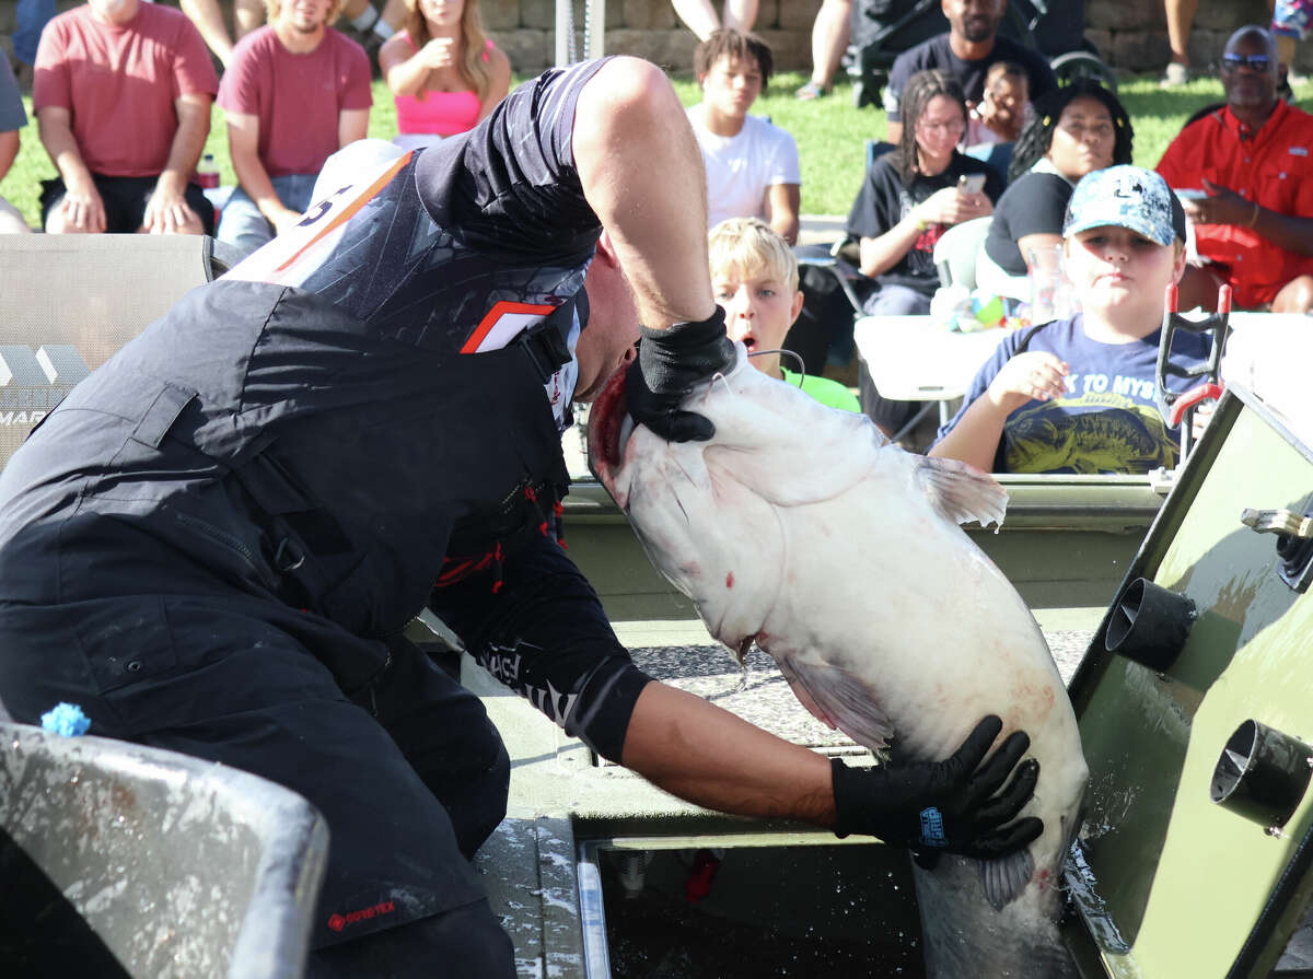
[[511, 88], [511, 62], [483, 34], [478, 0], [406, 0], [378, 64], [397, 100], [394, 142], [407, 150], [474, 129]]

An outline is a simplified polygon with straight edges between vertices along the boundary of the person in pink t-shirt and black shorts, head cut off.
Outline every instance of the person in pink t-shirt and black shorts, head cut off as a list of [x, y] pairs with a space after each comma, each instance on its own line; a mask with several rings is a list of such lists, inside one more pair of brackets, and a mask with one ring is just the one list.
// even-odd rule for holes
[[189, 182], [218, 77], [177, 10], [88, 0], [46, 25], [32, 106], [59, 169], [42, 182], [51, 234], [202, 234], [214, 210]]

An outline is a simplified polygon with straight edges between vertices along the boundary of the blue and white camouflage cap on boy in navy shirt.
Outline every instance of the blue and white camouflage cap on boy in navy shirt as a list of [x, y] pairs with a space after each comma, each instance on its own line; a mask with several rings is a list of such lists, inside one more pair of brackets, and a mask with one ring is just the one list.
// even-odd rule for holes
[[1081, 178], [1067, 202], [1062, 238], [1090, 228], [1119, 227], [1170, 245], [1186, 240], [1186, 211], [1158, 173], [1142, 167], [1108, 167]]

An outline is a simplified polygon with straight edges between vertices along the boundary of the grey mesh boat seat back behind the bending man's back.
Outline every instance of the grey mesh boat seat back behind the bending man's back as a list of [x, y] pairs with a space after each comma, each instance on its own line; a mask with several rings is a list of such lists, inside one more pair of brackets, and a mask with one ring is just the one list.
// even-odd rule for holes
[[74, 385], [234, 257], [204, 235], [0, 235], [0, 466]]

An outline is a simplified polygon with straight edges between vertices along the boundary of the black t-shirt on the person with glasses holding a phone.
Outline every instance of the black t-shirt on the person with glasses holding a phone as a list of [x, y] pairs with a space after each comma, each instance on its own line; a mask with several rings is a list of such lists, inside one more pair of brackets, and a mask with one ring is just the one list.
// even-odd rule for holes
[[[880, 238], [901, 222], [918, 203], [945, 186], [956, 186], [964, 173], [983, 173], [985, 193], [997, 201], [1003, 190], [1003, 181], [979, 160], [962, 154], [953, 154], [948, 169], [934, 177], [916, 176], [911, 184], [903, 182], [894, 169], [889, 156], [881, 156], [867, 172], [867, 178], [857, 192], [857, 199], [848, 213], [848, 235], [852, 238]], [[877, 276], [881, 283], [910, 286], [926, 295], [932, 295], [939, 287], [939, 273], [935, 270], [935, 243], [948, 231], [947, 224], [931, 224], [893, 268]]]

